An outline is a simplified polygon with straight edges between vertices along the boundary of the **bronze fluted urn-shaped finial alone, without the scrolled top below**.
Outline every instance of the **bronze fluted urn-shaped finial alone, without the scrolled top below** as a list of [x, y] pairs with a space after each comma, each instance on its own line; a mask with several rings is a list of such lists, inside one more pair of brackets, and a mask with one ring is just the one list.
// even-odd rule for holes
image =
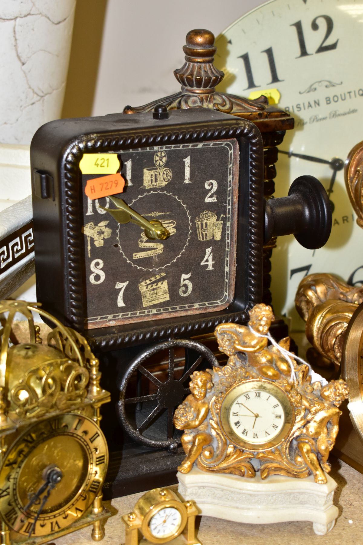
[[216, 85], [223, 80], [224, 73], [214, 64], [214, 35], [202, 28], [188, 32], [183, 51], [186, 62], [174, 75], [182, 86], [182, 91], [189, 93], [214, 93]]

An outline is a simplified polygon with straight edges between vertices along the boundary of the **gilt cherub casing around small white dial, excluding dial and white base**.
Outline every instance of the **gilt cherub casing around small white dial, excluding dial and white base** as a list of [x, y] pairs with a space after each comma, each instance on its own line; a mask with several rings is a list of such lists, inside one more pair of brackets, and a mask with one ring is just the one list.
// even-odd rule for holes
[[[327, 482], [328, 456], [339, 429], [339, 405], [348, 397], [348, 387], [343, 380], [327, 383], [303, 360], [298, 365], [299, 358], [288, 352], [289, 337], [274, 341], [269, 334], [274, 319], [271, 307], [256, 305], [249, 316], [247, 325], [217, 326], [219, 350], [229, 356], [228, 362], [224, 367], [195, 371], [191, 393], [175, 411], [174, 424], [184, 431], [181, 441], [186, 453], [178, 469], [188, 473], [196, 464], [205, 471], [246, 477], [259, 471], [261, 479], [312, 474], [315, 482]], [[290, 407], [285, 431], [275, 443], [267, 439], [256, 445], [236, 436], [233, 439], [223, 426], [224, 399], [249, 381], [257, 381], [260, 390], [274, 384], [285, 399], [282, 403]], [[256, 417], [259, 414], [255, 421]]]

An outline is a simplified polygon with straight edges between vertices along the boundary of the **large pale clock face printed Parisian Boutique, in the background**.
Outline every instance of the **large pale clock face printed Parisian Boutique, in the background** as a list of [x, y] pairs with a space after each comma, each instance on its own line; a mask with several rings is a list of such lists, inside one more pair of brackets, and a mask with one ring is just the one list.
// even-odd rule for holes
[[[318, 178], [333, 203], [333, 229], [322, 249], [281, 237], [272, 257], [276, 314], [303, 322], [294, 308], [306, 274], [329, 272], [363, 283], [363, 232], [344, 186], [343, 162], [362, 139], [362, 0], [273, 0], [235, 21], [216, 40], [227, 92], [272, 95], [295, 119], [276, 164], [275, 196], [303, 174]], [[280, 95], [280, 98], [278, 98]], [[290, 154], [290, 156], [288, 154]], [[302, 158], [297, 155], [305, 155]], [[337, 161], [339, 159], [339, 161]]]

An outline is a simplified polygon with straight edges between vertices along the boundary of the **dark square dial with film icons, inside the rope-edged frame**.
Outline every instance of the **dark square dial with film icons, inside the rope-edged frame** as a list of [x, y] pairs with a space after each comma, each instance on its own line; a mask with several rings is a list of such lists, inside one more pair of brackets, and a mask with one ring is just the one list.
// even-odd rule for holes
[[[125, 149], [117, 157], [121, 193], [91, 199], [85, 188], [95, 175], [82, 174], [85, 327], [226, 308], [235, 294], [237, 140]], [[115, 213], [118, 202], [124, 212]], [[152, 238], [148, 222], [167, 236]]]

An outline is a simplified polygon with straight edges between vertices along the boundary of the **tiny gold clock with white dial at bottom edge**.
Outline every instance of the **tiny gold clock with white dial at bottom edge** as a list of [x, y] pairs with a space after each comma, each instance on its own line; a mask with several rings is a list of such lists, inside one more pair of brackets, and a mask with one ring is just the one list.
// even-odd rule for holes
[[[195, 538], [197, 515], [194, 501], [182, 502], [173, 490], [154, 488], [141, 496], [131, 513], [122, 516], [126, 526], [125, 545], [202, 545]], [[139, 531], [145, 538], [141, 542]]]

